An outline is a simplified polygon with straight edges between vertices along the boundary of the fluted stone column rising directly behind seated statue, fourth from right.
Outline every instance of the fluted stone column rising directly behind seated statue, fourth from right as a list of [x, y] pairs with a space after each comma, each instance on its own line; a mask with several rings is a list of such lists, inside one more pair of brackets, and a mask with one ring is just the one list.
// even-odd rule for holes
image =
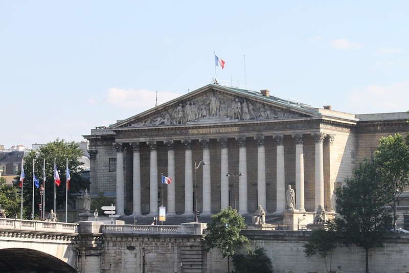
[[257, 199], [258, 205], [267, 210], [266, 188], [265, 188], [265, 148], [264, 137], [255, 137], [257, 142]]

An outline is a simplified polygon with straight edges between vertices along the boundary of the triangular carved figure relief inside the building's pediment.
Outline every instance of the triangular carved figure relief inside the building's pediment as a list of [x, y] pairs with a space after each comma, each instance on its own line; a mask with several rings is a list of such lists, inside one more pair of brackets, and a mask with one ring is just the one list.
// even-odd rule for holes
[[205, 98], [179, 103], [175, 108], [126, 126], [180, 125], [195, 122], [230, 122], [249, 120], [269, 120], [305, 117], [305, 115], [283, 111], [262, 105], [245, 98], [232, 98], [218, 93], [210, 93]]

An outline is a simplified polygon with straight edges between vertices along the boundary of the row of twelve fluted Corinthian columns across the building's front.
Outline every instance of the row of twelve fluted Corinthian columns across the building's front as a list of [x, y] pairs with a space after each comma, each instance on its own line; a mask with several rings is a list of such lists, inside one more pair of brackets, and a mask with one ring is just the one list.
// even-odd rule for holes
[[[324, 155], [323, 155], [323, 141], [326, 133], [311, 133], [315, 140], [315, 209], [319, 204], [324, 207]], [[304, 197], [304, 148], [303, 148], [303, 134], [293, 134], [292, 138], [296, 143], [296, 206], [300, 212], [305, 211], [305, 197]], [[285, 209], [285, 167], [284, 167], [284, 135], [278, 134], [274, 136], [277, 144], [277, 210], [275, 213], [282, 213]], [[266, 164], [265, 164], [265, 146], [264, 137], [255, 137], [257, 143], [257, 190], [258, 190], [258, 204], [263, 208], [266, 206]], [[227, 138], [218, 138], [220, 143], [220, 208], [224, 209], [229, 206], [229, 151], [227, 147]], [[237, 137], [236, 141], [239, 145], [239, 169], [245, 170], [247, 168], [246, 156], [246, 138]], [[193, 175], [196, 174], [195, 168], [197, 163], [192, 160], [191, 139], [181, 141], [185, 146], [185, 211], [183, 215], [194, 216], [193, 208], [193, 192], [196, 194], [196, 189], [193, 185]], [[207, 165], [211, 164], [209, 139], [199, 139], [203, 149], [203, 162]], [[168, 173], [169, 177], [175, 177], [175, 152], [174, 141], [169, 140], [164, 142], [168, 148]], [[158, 213], [157, 194], [158, 194], [158, 177], [157, 177], [157, 151], [156, 141], [147, 142], [150, 149], [150, 187], [149, 187], [149, 215], [155, 216]], [[117, 150], [117, 166], [116, 166], [116, 190], [117, 190], [117, 213], [124, 214], [124, 161], [123, 161], [123, 146], [121, 143], [114, 143]], [[132, 215], [142, 215], [141, 210], [141, 156], [140, 143], [130, 143], [129, 147], [133, 151], [133, 207]], [[264, 164], [260, 164], [264, 163]], [[202, 172], [202, 215], [210, 215], [211, 211], [211, 173], [210, 168], [203, 168]], [[195, 177], [196, 178], [196, 177]], [[167, 215], [176, 214], [175, 205], [175, 187], [170, 185], [168, 187], [167, 196]], [[247, 210], [247, 175], [242, 172], [239, 183], [239, 213], [248, 214]], [[215, 213], [215, 212], [213, 212]]]

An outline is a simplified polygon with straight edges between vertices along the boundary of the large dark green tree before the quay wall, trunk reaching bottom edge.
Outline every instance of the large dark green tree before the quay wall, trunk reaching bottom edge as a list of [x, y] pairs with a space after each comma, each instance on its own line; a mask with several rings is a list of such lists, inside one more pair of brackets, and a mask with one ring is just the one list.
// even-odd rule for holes
[[365, 249], [366, 272], [369, 272], [368, 253], [372, 247], [380, 246], [392, 221], [384, 210], [383, 192], [380, 190], [380, 175], [377, 165], [368, 159], [359, 163], [345, 185], [335, 189], [337, 231], [355, 245]]

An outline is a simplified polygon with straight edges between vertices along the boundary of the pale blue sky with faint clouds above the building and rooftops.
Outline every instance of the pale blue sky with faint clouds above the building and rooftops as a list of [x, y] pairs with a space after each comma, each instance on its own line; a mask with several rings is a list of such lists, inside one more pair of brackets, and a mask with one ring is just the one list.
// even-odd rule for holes
[[[0, 0], [0, 145], [80, 142], [211, 83], [409, 110], [409, 1]], [[215, 66], [214, 55], [225, 61]]]

